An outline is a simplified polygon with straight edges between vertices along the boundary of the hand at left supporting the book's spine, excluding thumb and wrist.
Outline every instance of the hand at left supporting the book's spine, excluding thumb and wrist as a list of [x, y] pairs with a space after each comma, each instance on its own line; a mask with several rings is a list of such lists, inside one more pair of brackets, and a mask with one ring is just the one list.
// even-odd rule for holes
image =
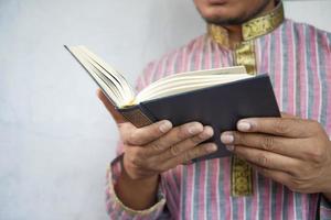
[[119, 132], [124, 167], [132, 179], [159, 175], [216, 150], [214, 143], [201, 144], [213, 135], [213, 129], [199, 122], [172, 128], [163, 120], [140, 129], [126, 122], [119, 124]]

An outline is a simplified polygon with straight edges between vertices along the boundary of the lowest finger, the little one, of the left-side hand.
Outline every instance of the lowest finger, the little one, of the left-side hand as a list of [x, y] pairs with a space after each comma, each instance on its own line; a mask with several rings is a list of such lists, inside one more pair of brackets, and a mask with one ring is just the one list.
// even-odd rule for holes
[[199, 157], [209, 155], [216, 151], [217, 151], [217, 145], [215, 143], [200, 144], [200, 145], [195, 146], [194, 148], [191, 148], [189, 151], [181, 153], [177, 157], [172, 157], [172, 158], [168, 160], [162, 166], [164, 167], [164, 170], [168, 170], [180, 164], [188, 164], [189, 162], [191, 162], [194, 158], [199, 158]]

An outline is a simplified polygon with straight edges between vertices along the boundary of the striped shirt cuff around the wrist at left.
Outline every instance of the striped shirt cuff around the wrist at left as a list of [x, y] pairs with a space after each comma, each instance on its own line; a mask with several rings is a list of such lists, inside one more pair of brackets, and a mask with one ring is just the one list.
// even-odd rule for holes
[[161, 183], [158, 187], [158, 202], [149, 209], [134, 210], [125, 206], [117, 197], [114, 190], [114, 186], [121, 173], [121, 160], [122, 155], [118, 156], [110, 163], [110, 166], [107, 168], [106, 204], [109, 217], [111, 219], [132, 219], [137, 217], [139, 217], [139, 219], [158, 219], [162, 217], [164, 215], [162, 212], [166, 206], [166, 193], [163, 190], [164, 187], [162, 187]]

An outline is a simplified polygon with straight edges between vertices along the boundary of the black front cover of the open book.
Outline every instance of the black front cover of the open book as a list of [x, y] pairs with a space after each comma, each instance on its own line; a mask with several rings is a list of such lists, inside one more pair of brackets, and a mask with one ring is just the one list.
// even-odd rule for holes
[[[239, 119], [250, 117], [280, 117], [268, 75], [217, 85], [166, 98], [143, 101], [138, 106], [118, 109], [134, 124], [147, 125], [163, 119], [174, 127], [199, 121], [214, 129], [209, 140], [218, 146], [217, 152], [195, 161], [228, 156], [231, 153], [221, 143], [224, 131], [236, 130]], [[134, 112], [134, 113], [132, 113]], [[139, 112], [139, 116], [137, 114]], [[127, 114], [128, 116], [128, 114]], [[132, 118], [131, 116], [136, 116]]]

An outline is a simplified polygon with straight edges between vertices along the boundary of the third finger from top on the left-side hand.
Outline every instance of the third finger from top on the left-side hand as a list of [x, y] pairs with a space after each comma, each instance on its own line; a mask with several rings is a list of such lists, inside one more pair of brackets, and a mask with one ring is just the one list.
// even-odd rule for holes
[[199, 145], [200, 143], [209, 140], [211, 136], [213, 136], [213, 134], [214, 134], [214, 131], [213, 131], [212, 127], [204, 127], [203, 131], [200, 134], [192, 136], [190, 139], [186, 139], [178, 144], [174, 144], [173, 146], [168, 148], [164, 153], [156, 156], [154, 160], [157, 160], [158, 162], [164, 162], [172, 157], [175, 157], [175, 156], [180, 155], [181, 153], [183, 153], [188, 150], [191, 150], [191, 148], [195, 147], [196, 145]]

